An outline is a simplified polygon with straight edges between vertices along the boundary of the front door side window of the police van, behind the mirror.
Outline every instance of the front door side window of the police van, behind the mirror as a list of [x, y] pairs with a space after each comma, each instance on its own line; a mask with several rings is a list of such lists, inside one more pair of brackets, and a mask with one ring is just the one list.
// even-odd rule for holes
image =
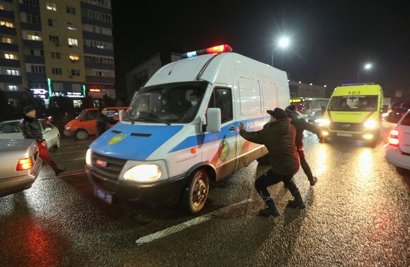
[[233, 119], [232, 92], [227, 88], [215, 88], [208, 107], [219, 107], [221, 123]]

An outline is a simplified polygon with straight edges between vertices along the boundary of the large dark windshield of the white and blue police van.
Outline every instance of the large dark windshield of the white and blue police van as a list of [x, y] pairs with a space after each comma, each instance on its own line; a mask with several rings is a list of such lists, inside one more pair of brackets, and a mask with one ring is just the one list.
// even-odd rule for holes
[[142, 88], [124, 120], [149, 123], [190, 123], [207, 89], [207, 81], [160, 84]]

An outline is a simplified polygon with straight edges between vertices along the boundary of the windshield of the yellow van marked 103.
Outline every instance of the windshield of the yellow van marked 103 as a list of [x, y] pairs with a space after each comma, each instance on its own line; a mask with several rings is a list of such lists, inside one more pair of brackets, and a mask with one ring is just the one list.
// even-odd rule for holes
[[361, 95], [361, 96], [344, 96], [332, 97], [329, 105], [330, 111], [376, 111], [377, 96], [376, 95]]

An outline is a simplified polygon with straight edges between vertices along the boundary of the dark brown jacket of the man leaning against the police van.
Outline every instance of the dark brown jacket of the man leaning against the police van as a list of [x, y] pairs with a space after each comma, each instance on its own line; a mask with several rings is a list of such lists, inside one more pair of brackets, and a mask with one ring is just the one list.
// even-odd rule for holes
[[296, 130], [290, 118], [266, 123], [260, 131], [240, 130], [240, 135], [248, 141], [264, 144], [268, 149], [271, 170], [278, 175], [294, 175], [300, 167], [296, 152]]

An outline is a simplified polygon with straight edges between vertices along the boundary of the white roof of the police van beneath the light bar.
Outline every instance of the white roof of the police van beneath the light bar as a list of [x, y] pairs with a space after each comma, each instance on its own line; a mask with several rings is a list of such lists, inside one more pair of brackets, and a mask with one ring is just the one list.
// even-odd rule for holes
[[211, 84], [216, 81], [231, 84], [232, 69], [246, 73], [246, 76], [273, 77], [287, 84], [287, 75], [284, 71], [238, 53], [218, 53], [198, 55], [195, 58], [186, 58], [163, 66], [146, 82], [145, 86], [197, 80], [209, 81]]

